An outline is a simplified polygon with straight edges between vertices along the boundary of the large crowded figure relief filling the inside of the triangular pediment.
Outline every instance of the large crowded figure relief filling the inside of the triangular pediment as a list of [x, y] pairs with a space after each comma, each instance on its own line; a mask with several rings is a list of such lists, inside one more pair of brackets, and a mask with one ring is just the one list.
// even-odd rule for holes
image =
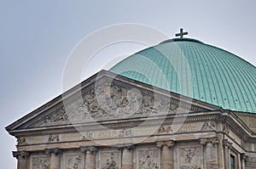
[[65, 109], [44, 117], [36, 126], [63, 121], [90, 121], [91, 118], [120, 118], [131, 115], [152, 115], [155, 113], [175, 113], [178, 104], [172, 99], [142, 93], [137, 88], [126, 89], [116, 85], [96, 87], [83, 94], [83, 99], [68, 104]]

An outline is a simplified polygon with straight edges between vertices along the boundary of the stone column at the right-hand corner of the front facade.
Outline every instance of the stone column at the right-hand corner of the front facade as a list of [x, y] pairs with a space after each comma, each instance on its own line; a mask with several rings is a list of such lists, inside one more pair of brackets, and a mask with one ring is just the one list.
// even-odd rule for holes
[[218, 138], [201, 138], [200, 144], [203, 144], [206, 149], [207, 169], [218, 169]]

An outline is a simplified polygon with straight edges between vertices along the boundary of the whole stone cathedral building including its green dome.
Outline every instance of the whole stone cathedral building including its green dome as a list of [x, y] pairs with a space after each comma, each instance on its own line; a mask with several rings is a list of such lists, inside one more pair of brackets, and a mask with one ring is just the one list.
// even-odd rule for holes
[[253, 169], [255, 72], [195, 39], [161, 42], [6, 127], [17, 168]]

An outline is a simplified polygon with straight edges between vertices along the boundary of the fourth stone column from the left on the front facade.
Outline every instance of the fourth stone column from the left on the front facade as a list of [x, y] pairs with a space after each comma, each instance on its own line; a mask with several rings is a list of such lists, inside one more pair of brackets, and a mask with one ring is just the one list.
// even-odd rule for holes
[[133, 169], [133, 149], [135, 149], [134, 144], [123, 147], [122, 169]]

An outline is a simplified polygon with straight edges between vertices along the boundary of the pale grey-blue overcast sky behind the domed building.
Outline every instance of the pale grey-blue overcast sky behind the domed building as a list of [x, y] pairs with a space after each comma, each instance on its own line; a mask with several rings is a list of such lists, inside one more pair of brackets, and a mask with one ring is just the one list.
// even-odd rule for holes
[[[81, 39], [104, 26], [137, 23], [172, 38], [189, 36], [224, 48], [256, 65], [256, 1], [0, 1], [1, 168], [15, 169], [15, 138], [4, 127], [61, 94], [68, 55]], [[103, 37], [102, 37], [103, 38]], [[139, 44], [109, 47], [90, 62], [85, 76], [113, 56], [133, 54]], [[93, 69], [90, 69], [93, 67]]]

